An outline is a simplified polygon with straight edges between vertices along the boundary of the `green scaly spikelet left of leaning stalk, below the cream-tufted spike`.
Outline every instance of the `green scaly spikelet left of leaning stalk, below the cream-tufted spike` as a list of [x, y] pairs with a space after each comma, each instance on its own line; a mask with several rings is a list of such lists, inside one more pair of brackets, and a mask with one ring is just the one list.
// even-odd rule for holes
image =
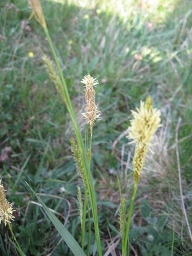
[[79, 152], [78, 147], [73, 138], [70, 139], [70, 142], [71, 142], [71, 150], [73, 152], [73, 156], [74, 156], [75, 162], [77, 164], [78, 172], [80, 174], [80, 177], [82, 178], [84, 187], [87, 187], [86, 174], [84, 172], [84, 168], [82, 165], [80, 152]]

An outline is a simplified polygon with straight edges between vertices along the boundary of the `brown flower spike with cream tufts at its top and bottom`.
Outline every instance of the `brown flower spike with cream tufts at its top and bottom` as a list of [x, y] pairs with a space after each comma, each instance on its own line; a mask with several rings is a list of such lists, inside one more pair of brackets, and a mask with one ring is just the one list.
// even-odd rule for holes
[[86, 118], [87, 123], [90, 124], [90, 131], [92, 134], [94, 121], [100, 120], [100, 111], [95, 103], [94, 90], [94, 86], [96, 86], [99, 82], [96, 80], [96, 78], [91, 77], [90, 74], [84, 76], [81, 82], [85, 84], [86, 92], [86, 112], [82, 113], [82, 115]]

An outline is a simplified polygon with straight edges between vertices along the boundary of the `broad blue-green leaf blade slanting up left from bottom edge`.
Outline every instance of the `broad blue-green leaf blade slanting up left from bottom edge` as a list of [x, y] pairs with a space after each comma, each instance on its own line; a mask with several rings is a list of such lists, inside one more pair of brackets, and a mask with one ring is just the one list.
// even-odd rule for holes
[[[27, 182], [26, 182], [27, 183]], [[57, 231], [59, 232], [62, 239], [66, 242], [70, 250], [74, 253], [75, 256], [86, 256], [86, 254], [82, 251], [79, 244], [76, 242], [76, 240], [73, 238], [71, 233], [67, 230], [67, 228], [57, 219], [57, 217], [53, 214], [53, 212], [50, 211], [50, 209], [45, 205], [44, 202], [40, 199], [40, 197], [37, 196], [35, 191], [30, 187], [30, 185], [27, 183], [35, 197], [38, 199], [39, 203], [44, 208], [48, 218], [53, 223]]]

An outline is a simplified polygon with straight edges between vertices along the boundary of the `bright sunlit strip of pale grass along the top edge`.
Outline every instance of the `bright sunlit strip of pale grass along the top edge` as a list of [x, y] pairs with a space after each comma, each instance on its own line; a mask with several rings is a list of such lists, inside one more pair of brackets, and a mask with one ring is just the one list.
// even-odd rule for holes
[[[47, 0], [55, 3], [66, 4], [65, 0]], [[137, 15], [138, 12], [143, 19], [149, 19], [153, 22], [162, 23], [166, 15], [173, 11], [176, 1], [174, 0], [69, 0], [68, 4], [78, 6], [84, 9], [96, 9], [97, 14], [101, 12], [118, 15], [123, 20], [129, 19], [131, 15]]]

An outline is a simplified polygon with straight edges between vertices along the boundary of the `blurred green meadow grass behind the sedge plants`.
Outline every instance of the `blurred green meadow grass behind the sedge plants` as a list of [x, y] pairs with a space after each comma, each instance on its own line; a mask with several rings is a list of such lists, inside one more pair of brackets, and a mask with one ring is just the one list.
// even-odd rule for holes
[[[130, 110], [150, 94], [163, 126], [140, 179], [131, 253], [170, 255], [173, 249], [173, 255], [191, 255], [176, 149], [191, 224], [192, 2], [41, 2], [82, 132], [80, 80], [88, 73], [99, 80], [102, 115], [94, 125], [92, 169], [103, 251], [120, 255], [117, 175], [130, 200], [134, 151], [124, 135]], [[34, 17], [29, 19], [27, 1], [3, 0], [0, 7], [0, 178], [16, 209], [13, 231], [27, 255], [70, 255], [25, 181], [80, 244], [76, 187], [81, 181], [69, 142], [73, 127], [46, 73], [41, 57], [42, 52], [51, 56], [48, 41]], [[0, 228], [0, 254], [14, 255], [9, 230]], [[91, 252], [96, 253], [93, 234]]]

